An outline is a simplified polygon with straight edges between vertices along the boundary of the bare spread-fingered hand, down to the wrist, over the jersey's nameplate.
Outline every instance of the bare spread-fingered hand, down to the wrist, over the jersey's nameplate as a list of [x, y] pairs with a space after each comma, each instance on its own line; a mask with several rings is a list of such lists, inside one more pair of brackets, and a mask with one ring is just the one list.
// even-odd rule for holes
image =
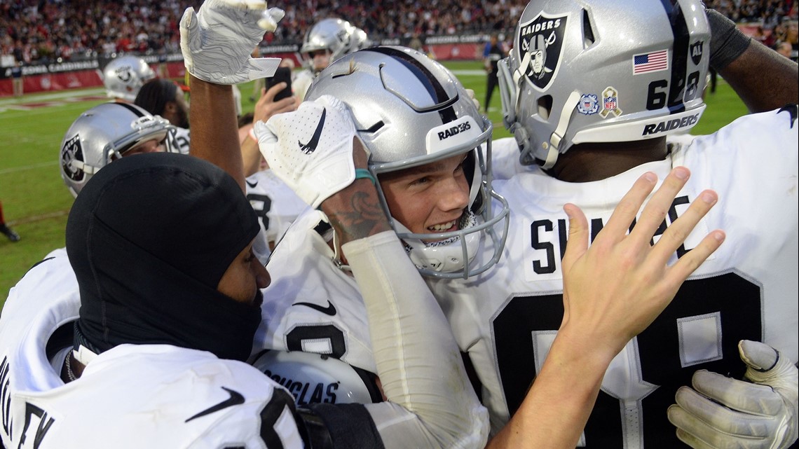
[[666, 264], [718, 201], [712, 190], [700, 193], [658, 243], [650, 244], [689, 176], [685, 167], [672, 170], [628, 234], [658, 181], [654, 173], [644, 174], [619, 202], [590, 248], [586, 217], [577, 206], [564, 206], [570, 228], [562, 263], [564, 316], [559, 333], [571, 330], [581, 339], [594, 340], [595, 349], [604, 350], [602, 355], [612, 359], [666, 308], [686, 277], [719, 247], [725, 234], [717, 230], [675, 264]]

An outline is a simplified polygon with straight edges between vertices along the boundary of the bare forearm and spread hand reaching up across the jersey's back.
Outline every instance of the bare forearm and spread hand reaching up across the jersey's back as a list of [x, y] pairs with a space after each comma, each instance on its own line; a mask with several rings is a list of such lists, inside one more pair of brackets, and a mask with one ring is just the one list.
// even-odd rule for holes
[[569, 240], [563, 257], [562, 324], [521, 407], [489, 447], [576, 446], [610, 361], [666, 308], [686, 277], [724, 240], [723, 232], [710, 232], [694, 251], [666, 265], [718, 200], [713, 191], [706, 190], [650, 246], [688, 175], [684, 167], [674, 169], [626, 235], [656, 182], [653, 173], [643, 175], [590, 248], [586, 217], [574, 205], [564, 207]]

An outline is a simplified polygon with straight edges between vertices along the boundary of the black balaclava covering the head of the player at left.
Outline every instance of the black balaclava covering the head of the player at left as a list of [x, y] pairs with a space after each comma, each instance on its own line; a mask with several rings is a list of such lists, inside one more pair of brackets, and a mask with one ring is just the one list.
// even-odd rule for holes
[[207, 161], [173, 153], [114, 161], [81, 190], [66, 224], [81, 293], [77, 334], [94, 352], [173, 344], [246, 360], [259, 304], [217, 284], [258, 231], [239, 185]]

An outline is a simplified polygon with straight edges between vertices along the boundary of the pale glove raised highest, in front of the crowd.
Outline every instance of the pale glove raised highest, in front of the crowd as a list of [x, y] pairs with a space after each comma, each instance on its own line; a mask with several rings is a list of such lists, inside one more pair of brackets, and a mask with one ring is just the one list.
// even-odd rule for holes
[[237, 84], [275, 74], [280, 58], [251, 58], [266, 31], [284, 16], [264, 0], [205, 0], [200, 12], [181, 18], [181, 51], [186, 70], [217, 84]]

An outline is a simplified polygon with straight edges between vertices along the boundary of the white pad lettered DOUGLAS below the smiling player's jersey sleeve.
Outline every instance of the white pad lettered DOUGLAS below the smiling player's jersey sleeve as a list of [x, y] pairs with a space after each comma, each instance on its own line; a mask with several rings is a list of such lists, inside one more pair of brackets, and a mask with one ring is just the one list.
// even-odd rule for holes
[[312, 352], [264, 351], [252, 366], [283, 385], [297, 405], [377, 403], [383, 397], [376, 376], [333, 357]]

